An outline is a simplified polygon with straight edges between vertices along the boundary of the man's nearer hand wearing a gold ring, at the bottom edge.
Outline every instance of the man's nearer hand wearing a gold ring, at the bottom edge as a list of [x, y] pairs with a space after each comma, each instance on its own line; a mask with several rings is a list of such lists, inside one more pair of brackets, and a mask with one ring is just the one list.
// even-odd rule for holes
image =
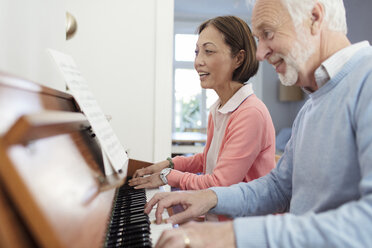
[[226, 222], [190, 222], [180, 228], [166, 230], [156, 243], [156, 248], [163, 247], [235, 247], [234, 227]]

